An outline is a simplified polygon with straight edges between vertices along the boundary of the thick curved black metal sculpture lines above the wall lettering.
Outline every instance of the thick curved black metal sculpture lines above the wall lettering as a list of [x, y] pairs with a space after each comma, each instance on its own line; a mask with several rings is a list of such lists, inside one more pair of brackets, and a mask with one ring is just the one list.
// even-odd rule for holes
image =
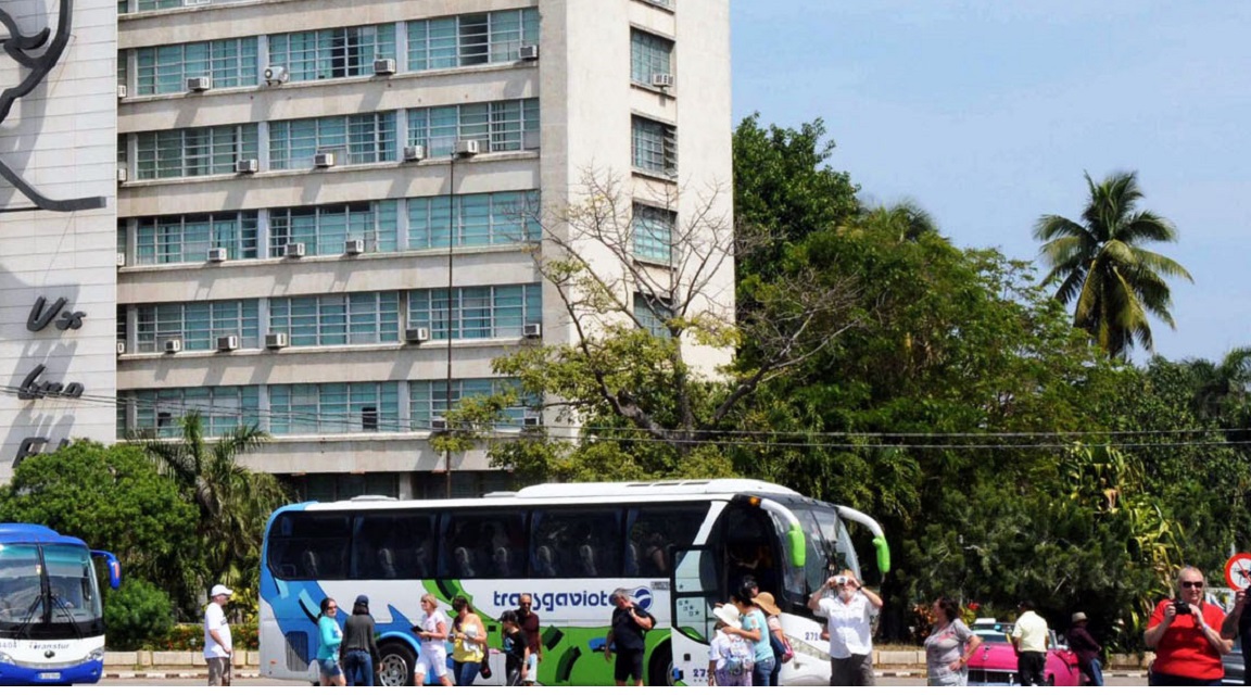
[[[18, 22], [13, 16], [4, 9], [0, 9], [0, 24], [9, 30], [9, 38], [0, 41], [0, 48], [4, 48], [4, 52], [9, 54], [9, 58], [29, 70], [20, 82], [0, 91], [0, 124], [9, 118], [13, 105], [39, 86], [48, 78], [49, 72], [53, 71], [53, 68], [56, 66], [56, 61], [61, 59], [61, 54], [65, 52], [65, 46], [70, 41], [73, 16], [73, 1], [61, 0], [60, 12], [56, 16], [56, 34], [54, 35], [50, 29], [44, 28], [28, 36], [18, 28]], [[49, 41], [49, 38], [51, 38], [51, 41]], [[43, 52], [39, 52], [39, 49], [44, 49]], [[19, 210], [74, 212], [76, 210], [95, 210], [105, 206], [104, 196], [69, 198], [63, 200], [48, 198], [23, 179], [21, 175], [10, 169], [3, 159], [0, 159], [0, 176], [35, 204], [34, 208], [8, 208], [0, 210], [0, 212]]]

